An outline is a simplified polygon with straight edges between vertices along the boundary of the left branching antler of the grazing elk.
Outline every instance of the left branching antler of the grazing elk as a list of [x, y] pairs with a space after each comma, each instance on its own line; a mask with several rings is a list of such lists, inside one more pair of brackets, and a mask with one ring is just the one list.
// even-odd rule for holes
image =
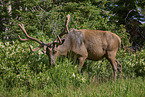
[[29, 45], [31, 51], [33, 51], [33, 52], [34, 52], [34, 51], [37, 51], [38, 49], [42, 48], [44, 45], [47, 45], [45, 42], [41, 42], [40, 40], [38, 40], [38, 39], [36, 39], [36, 38], [30, 37], [30, 36], [28, 35], [28, 33], [26, 32], [26, 30], [25, 30], [23, 24], [19, 24], [19, 26], [21, 27], [21, 29], [23, 30], [23, 32], [25, 33], [25, 35], [26, 35], [26, 37], [27, 37], [27, 39], [22, 39], [22, 38], [20, 37], [20, 35], [18, 35], [18, 37], [19, 37], [19, 39], [20, 39], [21, 41], [33, 40], [33, 41], [36, 41], [36, 42], [38, 42], [38, 43], [40, 44], [40, 46], [38, 46], [36, 49], [32, 49], [32, 46]]

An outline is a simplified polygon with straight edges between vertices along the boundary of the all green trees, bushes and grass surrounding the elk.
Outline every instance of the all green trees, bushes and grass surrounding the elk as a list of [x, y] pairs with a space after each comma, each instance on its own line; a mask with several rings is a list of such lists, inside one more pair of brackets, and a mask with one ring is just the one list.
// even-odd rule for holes
[[[106, 59], [78, 64], [60, 58], [49, 66], [41, 50], [31, 52], [18, 24], [28, 34], [51, 42], [64, 28], [107, 30], [122, 40], [117, 59], [122, 78], [113, 81]], [[0, 1], [0, 96], [144, 96], [145, 93], [144, 0], [1, 0]], [[119, 73], [118, 73], [119, 75]]]

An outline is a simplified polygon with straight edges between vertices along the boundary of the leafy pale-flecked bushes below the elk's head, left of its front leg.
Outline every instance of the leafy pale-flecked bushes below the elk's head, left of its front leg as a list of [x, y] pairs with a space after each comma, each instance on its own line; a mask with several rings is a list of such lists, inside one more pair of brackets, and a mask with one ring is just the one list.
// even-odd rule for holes
[[78, 67], [72, 65], [68, 59], [58, 62], [53, 68], [48, 65], [46, 55], [39, 51], [31, 53], [27, 43], [18, 43], [7, 42], [4, 45], [1, 42], [0, 82], [5, 87], [66, 87], [72, 82], [75, 86], [86, 82], [86, 79], [78, 74]]

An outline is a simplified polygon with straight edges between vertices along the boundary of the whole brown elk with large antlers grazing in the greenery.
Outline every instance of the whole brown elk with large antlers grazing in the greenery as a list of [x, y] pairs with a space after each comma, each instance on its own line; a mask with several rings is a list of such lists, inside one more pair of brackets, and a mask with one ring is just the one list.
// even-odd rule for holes
[[[49, 57], [49, 64], [55, 65], [57, 57], [64, 55], [68, 52], [72, 52], [79, 59], [79, 72], [86, 59], [98, 61], [104, 57], [111, 63], [114, 71], [114, 80], [117, 78], [117, 65], [115, 64], [116, 53], [121, 45], [121, 39], [116, 34], [110, 31], [102, 30], [88, 30], [88, 29], [71, 29], [68, 30], [68, 22], [70, 15], [67, 15], [66, 27], [63, 32], [57, 35], [55, 41], [50, 43], [42, 42], [36, 38], [30, 37], [23, 24], [19, 24], [25, 33], [27, 39], [21, 41], [32, 40], [38, 42], [40, 45], [36, 49], [31, 51], [37, 51], [40, 48], [44, 48], [44, 53]], [[121, 71], [121, 70], [120, 70]]]

